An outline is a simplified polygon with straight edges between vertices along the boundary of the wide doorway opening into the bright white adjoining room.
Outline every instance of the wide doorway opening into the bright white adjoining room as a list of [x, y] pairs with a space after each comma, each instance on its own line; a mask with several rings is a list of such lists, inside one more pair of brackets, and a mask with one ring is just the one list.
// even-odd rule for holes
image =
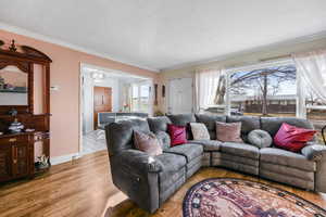
[[80, 155], [106, 150], [108, 124], [151, 116], [152, 92], [152, 78], [82, 64]]

